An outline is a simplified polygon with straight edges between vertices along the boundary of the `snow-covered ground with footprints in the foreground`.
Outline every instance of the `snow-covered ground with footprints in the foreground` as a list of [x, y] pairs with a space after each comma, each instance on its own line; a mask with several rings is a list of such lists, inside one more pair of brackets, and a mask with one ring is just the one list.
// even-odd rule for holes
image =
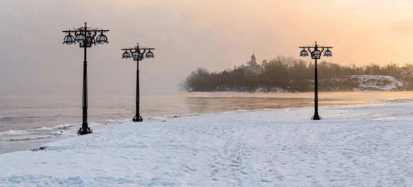
[[[0, 155], [0, 186], [413, 186], [413, 103], [142, 123]], [[165, 121], [164, 121], [165, 120]]]

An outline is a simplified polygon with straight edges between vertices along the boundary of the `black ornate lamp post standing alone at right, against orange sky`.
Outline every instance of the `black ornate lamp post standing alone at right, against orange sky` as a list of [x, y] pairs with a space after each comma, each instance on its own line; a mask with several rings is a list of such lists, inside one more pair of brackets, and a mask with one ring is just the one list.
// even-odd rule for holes
[[[321, 120], [321, 117], [318, 114], [318, 83], [317, 83], [317, 59], [321, 58], [321, 54], [324, 52], [326, 49], [326, 52], [324, 52], [324, 56], [330, 57], [332, 56], [332, 52], [330, 51], [330, 46], [321, 46], [317, 45], [317, 41], [315, 42], [315, 45], [312, 46], [306, 46], [306, 47], [299, 47], [303, 50], [299, 53], [299, 56], [308, 56], [308, 52], [311, 54], [311, 58], [315, 59], [315, 73], [314, 73], [314, 115], [311, 118], [311, 120]], [[308, 50], [308, 52], [306, 51]], [[311, 51], [313, 49], [313, 51]], [[321, 49], [321, 51], [320, 51]]]

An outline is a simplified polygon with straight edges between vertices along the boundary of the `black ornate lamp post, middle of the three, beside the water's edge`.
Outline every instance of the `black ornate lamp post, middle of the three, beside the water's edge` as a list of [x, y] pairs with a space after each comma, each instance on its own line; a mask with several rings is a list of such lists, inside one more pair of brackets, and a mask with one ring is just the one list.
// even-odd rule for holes
[[[140, 116], [139, 113], [139, 61], [142, 61], [143, 58], [154, 58], [153, 52], [151, 50], [155, 50], [155, 48], [149, 48], [149, 47], [140, 47], [139, 43], [136, 45], [136, 47], [129, 47], [125, 49], [120, 49], [125, 52], [122, 54], [122, 58], [134, 58], [134, 61], [136, 61], [136, 114], [135, 117], [132, 119], [133, 122], [142, 122], [143, 119]], [[148, 52], [147, 52], [148, 50]], [[129, 53], [130, 52], [130, 53]], [[146, 52], [146, 54], [145, 54]], [[145, 54], [145, 56], [144, 56]]]

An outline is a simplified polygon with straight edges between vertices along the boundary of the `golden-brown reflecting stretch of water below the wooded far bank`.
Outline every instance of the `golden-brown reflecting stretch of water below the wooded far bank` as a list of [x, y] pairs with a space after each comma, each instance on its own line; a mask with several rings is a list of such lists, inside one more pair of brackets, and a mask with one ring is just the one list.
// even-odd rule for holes
[[[375, 104], [374, 101], [412, 98], [412, 92], [323, 92], [319, 107]], [[192, 113], [314, 107], [313, 93], [293, 94], [193, 94], [183, 95]]]

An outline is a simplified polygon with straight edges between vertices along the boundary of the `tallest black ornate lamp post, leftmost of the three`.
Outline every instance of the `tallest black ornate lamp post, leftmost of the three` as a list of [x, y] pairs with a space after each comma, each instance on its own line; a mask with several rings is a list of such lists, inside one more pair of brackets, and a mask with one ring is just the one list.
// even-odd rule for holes
[[[92, 29], [87, 27], [87, 23], [85, 26], [73, 29], [73, 30], [63, 30], [67, 35], [63, 40], [63, 44], [72, 45], [79, 44], [79, 47], [83, 47], [84, 49], [84, 61], [83, 61], [83, 121], [82, 127], [78, 130], [78, 135], [85, 135], [88, 133], [93, 133], [92, 129], [87, 126], [87, 60], [86, 60], [86, 51], [87, 47], [92, 47], [92, 45], [96, 44], [105, 44], [107, 42], [107, 37], [105, 36], [105, 32], [109, 30], [101, 30], [101, 29]], [[98, 36], [96, 36], [98, 35]], [[95, 38], [96, 37], [96, 38]]]

